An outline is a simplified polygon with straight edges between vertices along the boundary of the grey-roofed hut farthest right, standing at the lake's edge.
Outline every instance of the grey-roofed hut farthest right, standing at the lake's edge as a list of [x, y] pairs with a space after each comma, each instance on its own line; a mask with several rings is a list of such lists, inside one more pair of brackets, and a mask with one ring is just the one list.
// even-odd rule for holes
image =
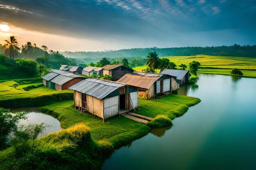
[[182, 85], [182, 84], [189, 84], [189, 71], [186, 70], [173, 70], [173, 69], [165, 69], [161, 72], [161, 74], [167, 74], [175, 78], [175, 81]]

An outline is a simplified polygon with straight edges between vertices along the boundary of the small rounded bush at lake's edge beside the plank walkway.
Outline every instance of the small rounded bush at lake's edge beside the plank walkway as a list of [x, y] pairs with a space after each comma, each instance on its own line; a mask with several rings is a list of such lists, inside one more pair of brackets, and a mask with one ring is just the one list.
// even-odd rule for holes
[[146, 123], [151, 129], [172, 126], [173, 122], [166, 115], [157, 115], [153, 120]]

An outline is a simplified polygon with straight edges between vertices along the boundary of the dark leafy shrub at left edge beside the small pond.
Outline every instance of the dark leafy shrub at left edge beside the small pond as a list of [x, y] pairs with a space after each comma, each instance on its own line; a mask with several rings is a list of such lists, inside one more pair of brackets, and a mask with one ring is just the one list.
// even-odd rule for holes
[[25, 114], [25, 112], [13, 114], [8, 109], [0, 108], [0, 150], [4, 148], [11, 134], [17, 130], [20, 119], [27, 119]]

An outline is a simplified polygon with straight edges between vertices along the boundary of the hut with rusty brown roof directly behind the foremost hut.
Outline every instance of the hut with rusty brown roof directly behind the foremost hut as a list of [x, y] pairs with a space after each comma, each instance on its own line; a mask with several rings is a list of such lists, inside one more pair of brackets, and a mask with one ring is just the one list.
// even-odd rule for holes
[[138, 95], [142, 98], [156, 98], [161, 93], [171, 93], [173, 77], [157, 73], [133, 72], [127, 73], [117, 82], [138, 87]]

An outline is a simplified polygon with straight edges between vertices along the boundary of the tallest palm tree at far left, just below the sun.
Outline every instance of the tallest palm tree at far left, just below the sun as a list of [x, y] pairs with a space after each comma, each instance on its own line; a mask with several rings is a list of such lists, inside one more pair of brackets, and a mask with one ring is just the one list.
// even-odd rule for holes
[[10, 36], [9, 40], [4, 40], [6, 44], [4, 44], [4, 55], [8, 58], [11, 58], [14, 60], [14, 57], [18, 56], [18, 42], [14, 36]]

